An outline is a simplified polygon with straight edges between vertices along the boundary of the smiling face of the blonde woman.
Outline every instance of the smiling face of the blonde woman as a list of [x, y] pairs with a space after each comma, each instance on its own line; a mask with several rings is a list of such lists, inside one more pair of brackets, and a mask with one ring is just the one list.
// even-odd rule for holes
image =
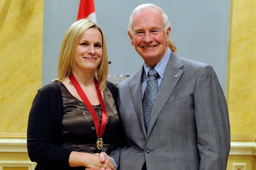
[[94, 71], [102, 59], [102, 36], [98, 29], [89, 28], [81, 37], [75, 52], [77, 70]]

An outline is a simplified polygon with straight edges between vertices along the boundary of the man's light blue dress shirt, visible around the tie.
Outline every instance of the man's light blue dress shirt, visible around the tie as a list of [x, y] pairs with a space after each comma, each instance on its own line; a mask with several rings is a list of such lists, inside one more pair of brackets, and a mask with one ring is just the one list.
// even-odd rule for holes
[[[167, 63], [169, 61], [170, 54], [171, 54], [171, 50], [168, 48], [168, 50], [165, 53], [164, 57], [154, 67], [156, 72], [159, 75], [159, 77], [158, 77], [158, 88], [159, 88], [159, 86], [160, 86], [160, 84], [162, 82], [162, 78], [164, 76], [164, 71], [165, 71]], [[145, 92], [145, 89], [146, 89], [146, 86], [147, 86], [148, 72], [149, 72], [150, 69], [152, 69], [145, 62], [143, 64], [143, 67], [144, 67], [144, 74], [143, 74], [143, 79], [142, 79], [142, 83], [141, 83], [141, 99], [143, 98], [143, 95], [144, 95], [144, 92]]]

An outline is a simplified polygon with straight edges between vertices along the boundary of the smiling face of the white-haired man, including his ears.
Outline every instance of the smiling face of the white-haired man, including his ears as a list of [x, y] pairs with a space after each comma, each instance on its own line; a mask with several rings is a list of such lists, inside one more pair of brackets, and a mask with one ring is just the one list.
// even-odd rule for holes
[[165, 30], [160, 12], [144, 9], [133, 16], [131, 29], [131, 44], [148, 66], [155, 67], [168, 49], [171, 27]]

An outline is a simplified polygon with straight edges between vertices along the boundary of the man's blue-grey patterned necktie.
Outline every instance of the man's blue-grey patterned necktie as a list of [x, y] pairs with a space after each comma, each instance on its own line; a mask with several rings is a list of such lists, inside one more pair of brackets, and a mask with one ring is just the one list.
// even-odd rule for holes
[[148, 80], [145, 93], [142, 98], [142, 108], [144, 115], [144, 123], [146, 131], [148, 132], [148, 125], [151, 116], [151, 112], [158, 92], [158, 74], [154, 68], [148, 72]]

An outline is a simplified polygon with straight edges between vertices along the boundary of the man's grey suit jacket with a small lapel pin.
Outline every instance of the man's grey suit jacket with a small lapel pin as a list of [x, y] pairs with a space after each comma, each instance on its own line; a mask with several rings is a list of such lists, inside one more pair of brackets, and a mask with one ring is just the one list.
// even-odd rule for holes
[[[171, 52], [144, 126], [143, 67], [118, 85], [119, 110], [127, 145], [120, 170], [224, 170], [230, 150], [228, 108], [213, 68]], [[175, 76], [177, 75], [177, 76]]]

